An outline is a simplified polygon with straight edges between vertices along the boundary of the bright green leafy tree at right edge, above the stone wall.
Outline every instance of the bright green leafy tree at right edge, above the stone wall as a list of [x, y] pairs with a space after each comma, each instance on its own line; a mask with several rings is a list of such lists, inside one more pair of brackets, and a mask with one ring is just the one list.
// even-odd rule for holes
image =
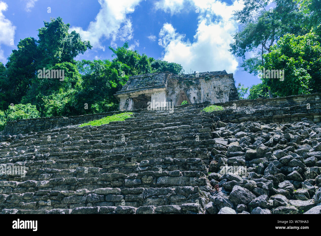
[[303, 36], [284, 35], [264, 56], [261, 69], [284, 69], [285, 74], [284, 79], [262, 78], [271, 92], [279, 96], [321, 92], [321, 35], [312, 31]]

